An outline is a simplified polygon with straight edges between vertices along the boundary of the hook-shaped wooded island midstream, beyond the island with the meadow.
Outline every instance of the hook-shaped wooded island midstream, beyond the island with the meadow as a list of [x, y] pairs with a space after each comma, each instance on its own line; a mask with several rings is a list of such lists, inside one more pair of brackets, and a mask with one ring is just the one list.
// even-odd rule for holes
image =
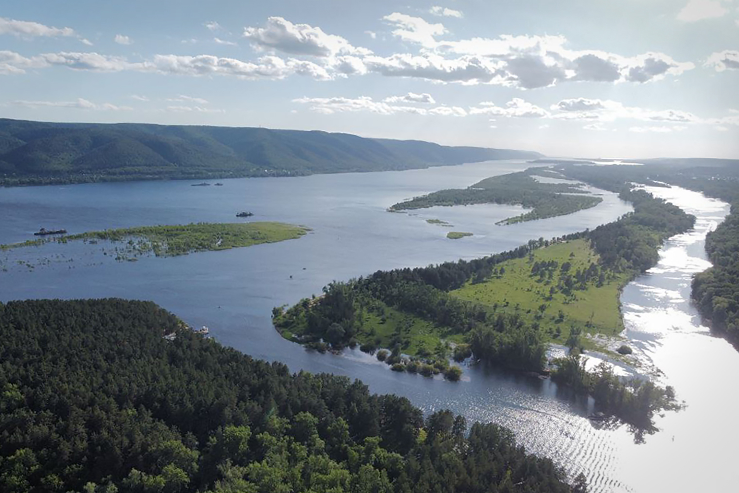
[[534, 177], [544, 174], [536, 168], [518, 173], [486, 178], [468, 188], [450, 188], [415, 197], [392, 205], [391, 212], [434, 207], [436, 205], [509, 204], [522, 205], [531, 211], [516, 217], [508, 217], [498, 224], [533, 221], [548, 217], [572, 214], [601, 203], [601, 197], [593, 197], [579, 184], [541, 183]]

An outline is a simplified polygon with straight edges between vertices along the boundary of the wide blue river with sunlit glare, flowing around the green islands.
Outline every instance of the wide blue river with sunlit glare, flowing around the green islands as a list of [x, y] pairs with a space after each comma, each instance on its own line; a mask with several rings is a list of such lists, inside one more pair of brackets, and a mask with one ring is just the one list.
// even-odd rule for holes
[[[398, 374], [374, 358], [347, 351], [321, 355], [285, 341], [273, 330], [272, 307], [319, 293], [333, 279], [378, 269], [471, 259], [595, 228], [630, 206], [614, 194], [567, 217], [497, 226], [521, 208], [473, 205], [431, 208], [412, 214], [385, 209], [440, 188], [462, 188], [485, 177], [527, 168], [495, 161], [413, 171], [331, 174], [296, 178], [222, 180], [223, 186], [191, 182], [98, 183], [0, 188], [0, 244], [33, 238], [38, 228], [70, 233], [134, 225], [236, 220], [276, 220], [313, 228], [305, 237], [272, 245], [205, 252], [139, 262], [115, 262], [109, 245], [49, 244], [0, 252], [0, 300], [118, 296], [151, 299], [186, 322], [208, 325], [223, 344], [256, 358], [283, 361], [293, 371], [330, 372], [360, 378], [374, 392], [405, 395], [426, 412], [449, 408], [469, 420], [496, 421], [517, 432], [521, 443], [556, 460], [571, 474], [585, 472], [593, 492], [734, 491], [735, 409], [739, 398], [723, 378], [739, 368], [739, 353], [701, 326], [689, 303], [690, 279], [709, 267], [707, 231], [728, 206], [679, 188], [650, 188], [698, 217], [695, 230], [670, 239], [661, 261], [621, 296], [627, 330], [645, 362], [658, 367], [687, 403], [656, 420], [661, 429], [635, 443], [625, 426], [599, 429], [586, 418], [592, 402], [573, 399], [551, 381], [525, 375], [465, 369], [452, 383]], [[446, 239], [454, 224], [473, 237]]]

